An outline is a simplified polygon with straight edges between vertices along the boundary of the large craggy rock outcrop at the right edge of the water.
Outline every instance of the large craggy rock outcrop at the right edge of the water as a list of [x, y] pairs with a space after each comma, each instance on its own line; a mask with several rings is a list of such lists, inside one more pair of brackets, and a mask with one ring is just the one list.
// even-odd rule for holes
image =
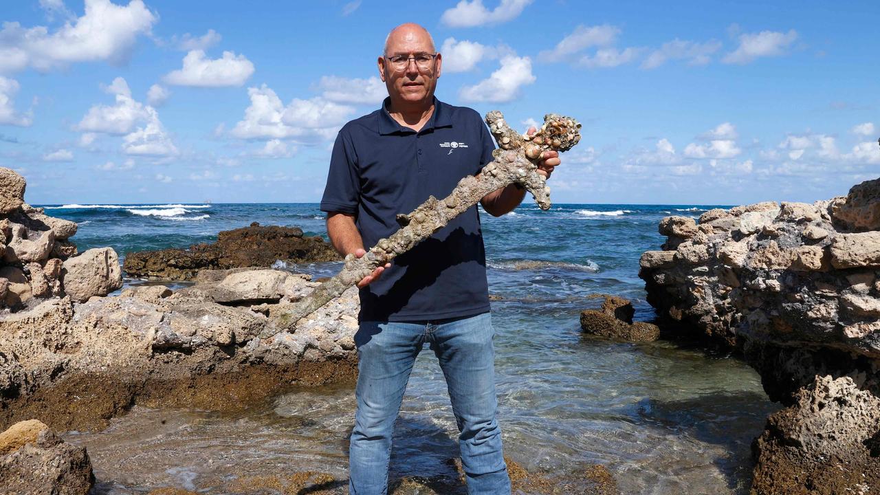
[[642, 255], [666, 324], [742, 351], [789, 406], [755, 444], [758, 493], [880, 491], [878, 209], [880, 180], [830, 201], [667, 217], [664, 250]]

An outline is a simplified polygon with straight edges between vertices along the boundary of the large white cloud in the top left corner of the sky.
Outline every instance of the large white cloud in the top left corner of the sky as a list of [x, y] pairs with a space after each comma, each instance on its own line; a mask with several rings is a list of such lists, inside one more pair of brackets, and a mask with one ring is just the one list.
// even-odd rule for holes
[[[48, 2], [58, 6], [58, 2]], [[85, 0], [83, 17], [64, 23], [55, 33], [48, 27], [26, 28], [6, 22], [0, 30], [0, 72], [50, 70], [68, 63], [126, 60], [139, 34], [150, 33], [158, 18], [142, 0], [116, 5], [110, 0]]]

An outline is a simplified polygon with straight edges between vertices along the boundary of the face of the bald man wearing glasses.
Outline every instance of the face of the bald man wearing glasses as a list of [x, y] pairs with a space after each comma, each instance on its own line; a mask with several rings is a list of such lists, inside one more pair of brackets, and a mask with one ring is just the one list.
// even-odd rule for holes
[[[379, 77], [385, 82], [392, 101], [403, 100], [408, 103], [426, 104], [432, 101], [437, 79], [440, 78], [441, 57], [437, 54], [424, 69], [419, 67], [415, 58], [420, 54], [434, 53], [428, 33], [407, 28], [392, 32], [385, 56], [378, 59]], [[407, 60], [406, 66], [397, 69], [388, 60], [395, 55], [412, 58]]]

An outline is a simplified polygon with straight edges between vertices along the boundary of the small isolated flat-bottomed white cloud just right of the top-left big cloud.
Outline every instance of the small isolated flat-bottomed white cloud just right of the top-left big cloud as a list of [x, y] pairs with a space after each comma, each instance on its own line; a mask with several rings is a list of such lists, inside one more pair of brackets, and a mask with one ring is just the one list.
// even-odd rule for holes
[[172, 70], [162, 80], [180, 86], [240, 86], [251, 75], [253, 63], [245, 55], [223, 52], [223, 58], [209, 59], [204, 50], [192, 50], [183, 57], [183, 68]]

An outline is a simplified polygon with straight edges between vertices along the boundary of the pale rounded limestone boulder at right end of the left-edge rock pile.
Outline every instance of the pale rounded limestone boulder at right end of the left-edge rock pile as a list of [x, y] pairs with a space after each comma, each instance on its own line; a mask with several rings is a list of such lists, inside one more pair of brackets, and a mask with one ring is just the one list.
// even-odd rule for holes
[[62, 284], [76, 302], [106, 296], [122, 286], [119, 257], [112, 247], [95, 247], [68, 258], [62, 265]]

